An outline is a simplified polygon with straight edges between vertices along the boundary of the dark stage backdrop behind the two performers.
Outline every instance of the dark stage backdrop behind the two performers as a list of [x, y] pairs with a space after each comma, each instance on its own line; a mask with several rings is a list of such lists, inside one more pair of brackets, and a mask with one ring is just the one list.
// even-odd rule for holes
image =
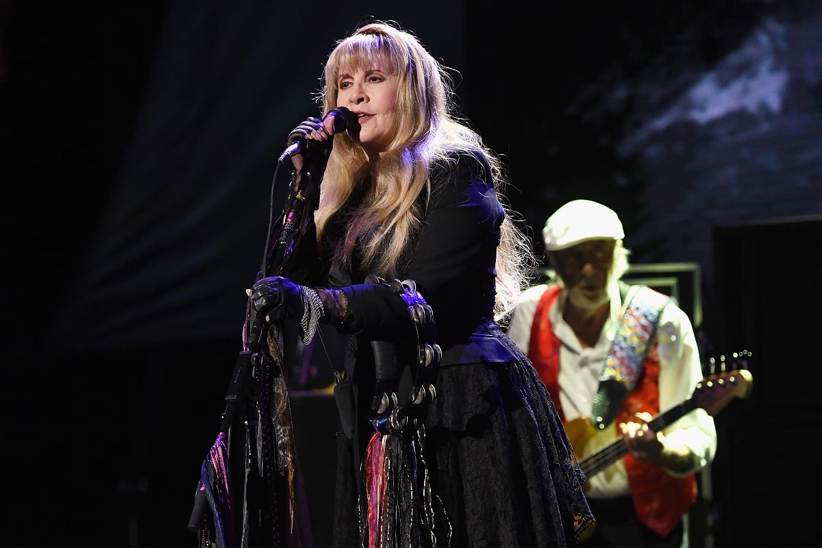
[[[634, 262], [699, 265], [704, 358], [753, 352], [695, 542], [818, 546], [819, 2], [385, 4], [0, 2], [0, 545], [194, 546], [276, 158], [376, 16], [453, 69], [536, 250], [559, 205], [603, 201]], [[293, 396], [320, 545], [323, 371]]]

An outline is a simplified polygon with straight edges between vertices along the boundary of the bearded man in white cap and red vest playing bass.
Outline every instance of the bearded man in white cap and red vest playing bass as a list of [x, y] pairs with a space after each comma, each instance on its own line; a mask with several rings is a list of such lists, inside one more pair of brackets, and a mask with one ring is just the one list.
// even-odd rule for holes
[[621, 281], [624, 237], [605, 205], [556, 210], [543, 229], [556, 279], [522, 293], [508, 334], [547, 385], [578, 459], [625, 440], [625, 457], [587, 478], [597, 523], [580, 546], [682, 546], [694, 472], [713, 460], [716, 430], [701, 408], [665, 432], [646, 424], [689, 398], [703, 375], [685, 312]]

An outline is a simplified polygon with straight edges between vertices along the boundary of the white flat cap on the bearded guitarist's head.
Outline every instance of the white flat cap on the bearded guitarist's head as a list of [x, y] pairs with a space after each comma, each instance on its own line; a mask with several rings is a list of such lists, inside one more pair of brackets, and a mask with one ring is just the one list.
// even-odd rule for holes
[[548, 217], [543, 228], [547, 251], [575, 246], [586, 240], [625, 237], [617, 212], [591, 200], [572, 200]]

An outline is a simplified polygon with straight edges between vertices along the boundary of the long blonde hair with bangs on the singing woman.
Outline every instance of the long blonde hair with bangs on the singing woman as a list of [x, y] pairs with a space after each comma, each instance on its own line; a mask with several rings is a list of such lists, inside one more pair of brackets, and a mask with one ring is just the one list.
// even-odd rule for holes
[[322, 182], [321, 207], [316, 212], [321, 240], [330, 217], [343, 208], [354, 192], [362, 196], [346, 217], [346, 233], [332, 257], [350, 266], [355, 243], [360, 246], [363, 269], [394, 279], [413, 236], [422, 228], [424, 211], [417, 198], [431, 196], [429, 170], [438, 161], [454, 163], [455, 151], [482, 154], [491, 167], [497, 197], [506, 210], [501, 242], [496, 252], [495, 318], [510, 313], [536, 266], [531, 242], [515, 226], [514, 214], [502, 196], [505, 177], [500, 159], [476, 131], [455, 113], [453, 81], [439, 62], [409, 31], [376, 21], [339, 40], [323, 73], [322, 112], [337, 106], [339, 74], [378, 66], [398, 76], [395, 137], [380, 159], [369, 165], [363, 148], [342, 132]]

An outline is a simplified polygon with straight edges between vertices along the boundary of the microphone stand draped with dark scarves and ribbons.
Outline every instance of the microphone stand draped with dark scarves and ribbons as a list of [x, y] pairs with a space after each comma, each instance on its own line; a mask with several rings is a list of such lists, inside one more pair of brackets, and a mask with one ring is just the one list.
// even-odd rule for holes
[[[312, 242], [316, 246], [314, 211], [319, 205], [320, 182], [330, 154], [330, 144], [328, 141], [326, 147], [315, 147], [316, 152], [312, 151], [309, 157], [312, 159], [311, 169], [308, 169], [307, 158], [306, 166], [293, 175], [282, 214], [275, 220], [274, 187], [281, 165], [278, 162], [271, 183], [266, 250], [257, 279], [284, 275], [300, 283], [309, 273], [310, 265], [300, 265], [299, 260], [306, 251], [298, 251], [304, 247], [303, 242], [309, 242], [309, 247], [312, 247]], [[271, 242], [274, 242], [273, 245]], [[293, 458], [288, 390], [282, 378], [283, 352], [279, 348], [276, 348], [277, 356], [264, 356], [263, 352], [266, 332], [268, 338], [279, 347], [282, 329], [279, 325], [269, 325], [266, 329], [263, 320], [256, 316], [249, 301], [246, 323], [243, 325], [244, 347], [229, 380], [219, 434], [203, 462], [201, 481], [187, 526], [189, 531], [199, 532], [203, 547], [210, 546], [210, 535], [217, 537], [218, 546], [245, 547], [251, 546], [248, 544], [250, 541], [284, 546], [281, 544], [283, 536], [279, 532], [280, 526], [289, 525], [284, 522], [284, 513], [280, 509], [284, 498], [289, 504], [291, 526], [285, 536], [294, 534], [296, 504], [293, 481], [298, 471], [296, 459]], [[257, 389], [254, 389], [255, 385]], [[270, 403], [272, 397], [278, 400], [275, 405]], [[276, 417], [269, 414], [272, 408], [278, 413]], [[257, 439], [258, 433], [260, 439]], [[285, 438], [284, 443], [273, 440], [275, 435]], [[261, 454], [260, 462], [258, 454]], [[280, 481], [278, 472], [284, 481]], [[260, 508], [256, 508], [256, 504]], [[238, 524], [237, 511], [240, 509], [242, 523]], [[209, 515], [213, 518], [213, 529], [210, 528]], [[238, 538], [238, 531], [242, 532], [242, 539]]]

